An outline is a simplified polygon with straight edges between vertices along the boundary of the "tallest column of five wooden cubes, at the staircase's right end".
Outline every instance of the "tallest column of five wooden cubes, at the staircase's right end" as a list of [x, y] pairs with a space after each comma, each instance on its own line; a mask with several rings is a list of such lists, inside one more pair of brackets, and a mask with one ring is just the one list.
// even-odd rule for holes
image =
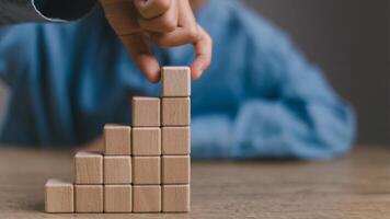
[[[185, 77], [184, 77], [185, 76]], [[191, 73], [162, 70], [162, 211], [190, 210]]]

